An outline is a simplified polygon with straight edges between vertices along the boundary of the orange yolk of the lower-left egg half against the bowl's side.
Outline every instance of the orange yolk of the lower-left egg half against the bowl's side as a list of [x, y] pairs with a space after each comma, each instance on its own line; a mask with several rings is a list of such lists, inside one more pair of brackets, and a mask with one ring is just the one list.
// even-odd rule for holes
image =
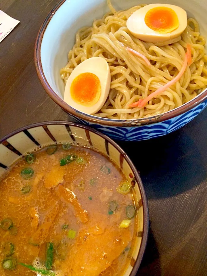
[[93, 73], [82, 73], [72, 81], [70, 87], [72, 99], [83, 106], [93, 106], [101, 95], [101, 83]]

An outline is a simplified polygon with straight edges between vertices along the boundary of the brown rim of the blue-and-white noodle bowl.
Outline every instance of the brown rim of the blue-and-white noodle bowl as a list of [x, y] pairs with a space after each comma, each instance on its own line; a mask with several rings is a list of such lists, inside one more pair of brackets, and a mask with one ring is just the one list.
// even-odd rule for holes
[[178, 108], [175, 108], [173, 110], [170, 110], [168, 112], [158, 114], [155, 116], [147, 117], [147, 118], [140, 118], [140, 119], [128, 119], [128, 120], [117, 120], [117, 119], [108, 119], [108, 118], [100, 118], [94, 115], [86, 114], [81, 111], [78, 111], [68, 104], [64, 100], [62, 100], [55, 91], [51, 88], [49, 85], [41, 63], [41, 43], [44, 36], [44, 32], [55, 14], [55, 12], [62, 6], [62, 4], [65, 3], [67, 0], [60, 0], [55, 7], [49, 12], [47, 17], [45, 18], [43, 24], [41, 25], [39, 32], [37, 34], [37, 38], [35, 41], [35, 48], [34, 48], [34, 64], [37, 70], [37, 75], [39, 77], [39, 80], [41, 82], [41, 85], [47, 92], [47, 94], [55, 101], [56, 104], [58, 104], [66, 113], [72, 114], [75, 117], [78, 117], [82, 120], [89, 121], [95, 124], [102, 124], [106, 126], [113, 126], [113, 127], [136, 127], [140, 125], [145, 124], [152, 124], [156, 122], [162, 122], [168, 119], [172, 119], [176, 116], [179, 116], [190, 109], [196, 107], [200, 103], [202, 103], [205, 99], [207, 99], [207, 88], [201, 92], [198, 96], [196, 96], [194, 99], [188, 101], [187, 103], [183, 104], [182, 106], [179, 106]]

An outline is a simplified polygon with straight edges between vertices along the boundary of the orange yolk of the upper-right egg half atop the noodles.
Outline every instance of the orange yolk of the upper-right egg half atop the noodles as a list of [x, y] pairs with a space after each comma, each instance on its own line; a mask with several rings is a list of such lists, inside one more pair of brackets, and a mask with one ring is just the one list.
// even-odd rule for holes
[[179, 20], [173, 9], [168, 7], [155, 7], [147, 11], [145, 24], [154, 31], [167, 33], [179, 27]]

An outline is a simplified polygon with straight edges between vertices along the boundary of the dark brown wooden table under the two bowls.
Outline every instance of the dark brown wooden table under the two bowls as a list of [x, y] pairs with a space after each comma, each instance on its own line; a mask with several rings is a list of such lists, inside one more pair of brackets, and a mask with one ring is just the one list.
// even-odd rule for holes
[[[20, 20], [0, 43], [0, 137], [34, 122], [70, 120], [43, 90], [33, 61], [37, 32], [56, 3], [0, 0], [0, 9]], [[206, 133], [207, 109], [167, 136], [118, 142], [141, 172], [149, 202], [150, 234], [137, 275], [207, 275]]]

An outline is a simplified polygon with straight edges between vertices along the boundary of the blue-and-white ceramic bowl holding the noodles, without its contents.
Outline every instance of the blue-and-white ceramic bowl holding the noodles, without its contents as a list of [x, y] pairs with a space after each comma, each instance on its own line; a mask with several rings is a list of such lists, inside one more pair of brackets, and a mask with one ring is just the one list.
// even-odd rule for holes
[[[112, 2], [118, 10], [137, 4], [137, 0], [112, 0]], [[181, 6], [188, 11], [189, 16], [199, 20], [201, 32], [207, 37], [205, 0], [142, 0], [140, 2], [170, 3]], [[67, 63], [68, 51], [74, 45], [75, 33], [83, 26], [91, 26], [95, 18], [101, 18], [107, 11], [106, 0], [61, 0], [48, 14], [39, 30], [34, 53], [37, 74], [48, 95], [77, 122], [90, 125], [114, 139], [125, 141], [162, 136], [193, 120], [207, 105], [207, 89], [179, 108], [137, 120], [99, 118], [79, 112], [64, 102], [64, 84], [59, 72]]]

